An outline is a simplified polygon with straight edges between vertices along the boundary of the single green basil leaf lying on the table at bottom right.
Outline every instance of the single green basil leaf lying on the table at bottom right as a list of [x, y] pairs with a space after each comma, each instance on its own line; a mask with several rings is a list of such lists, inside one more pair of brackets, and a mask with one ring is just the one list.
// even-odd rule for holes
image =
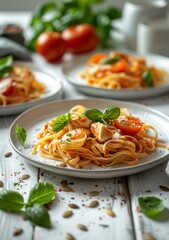
[[164, 211], [164, 204], [161, 199], [156, 197], [139, 197], [141, 211], [148, 217], [156, 217]]

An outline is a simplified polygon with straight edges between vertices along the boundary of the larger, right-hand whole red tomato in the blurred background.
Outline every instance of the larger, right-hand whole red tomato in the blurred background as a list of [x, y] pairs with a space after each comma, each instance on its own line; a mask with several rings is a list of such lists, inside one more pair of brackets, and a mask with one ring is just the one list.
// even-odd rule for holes
[[98, 45], [96, 30], [90, 24], [70, 26], [63, 31], [62, 36], [68, 49], [75, 54], [90, 52]]

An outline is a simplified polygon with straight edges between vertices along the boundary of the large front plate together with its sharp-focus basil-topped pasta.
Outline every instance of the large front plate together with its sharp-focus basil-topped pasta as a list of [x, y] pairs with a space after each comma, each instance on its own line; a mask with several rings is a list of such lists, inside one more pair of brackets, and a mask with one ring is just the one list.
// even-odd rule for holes
[[11, 125], [9, 138], [14, 150], [37, 167], [68, 176], [109, 178], [167, 160], [168, 129], [168, 116], [143, 105], [81, 99], [27, 110]]

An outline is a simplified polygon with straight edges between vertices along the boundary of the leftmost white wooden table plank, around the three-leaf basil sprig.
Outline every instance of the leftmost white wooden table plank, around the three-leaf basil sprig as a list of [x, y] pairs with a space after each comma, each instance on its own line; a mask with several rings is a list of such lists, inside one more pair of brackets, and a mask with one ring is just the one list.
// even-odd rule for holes
[[[24, 159], [15, 153], [8, 141], [8, 129], [13, 117], [0, 118], [0, 180], [4, 188], [20, 192], [24, 199], [27, 199], [30, 188], [37, 182], [37, 168], [28, 165]], [[10, 157], [5, 153], [11, 152]], [[20, 181], [23, 174], [29, 174], [30, 178]], [[17, 184], [18, 183], [18, 184]], [[1, 189], [0, 189], [1, 190]], [[12, 240], [15, 228], [22, 228], [23, 233], [17, 237], [18, 240], [30, 240], [33, 235], [33, 228], [29, 221], [23, 221], [18, 214], [0, 211], [0, 239]]]

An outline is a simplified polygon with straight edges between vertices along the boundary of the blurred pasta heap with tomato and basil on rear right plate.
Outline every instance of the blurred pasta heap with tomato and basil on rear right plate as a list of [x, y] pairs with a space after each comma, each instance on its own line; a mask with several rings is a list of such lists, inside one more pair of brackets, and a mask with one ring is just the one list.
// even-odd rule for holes
[[88, 85], [116, 90], [156, 87], [167, 81], [164, 70], [148, 66], [145, 58], [124, 52], [91, 56], [80, 76]]

